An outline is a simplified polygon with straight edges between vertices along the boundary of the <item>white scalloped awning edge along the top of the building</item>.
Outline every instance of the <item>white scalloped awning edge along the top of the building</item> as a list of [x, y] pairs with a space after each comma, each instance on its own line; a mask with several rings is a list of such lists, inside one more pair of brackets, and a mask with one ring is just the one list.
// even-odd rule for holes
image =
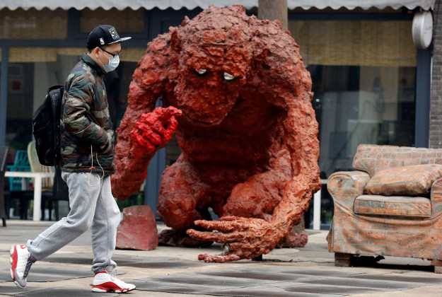
[[[434, 8], [434, 3], [436, 0], [368, 0], [368, 1], [357, 1], [357, 0], [288, 0], [287, 6], [289, 9], [294, 8], [326, 8], [331, 7], [333, 9], [345, 7], [348, 9], [354, 9], [356, 7], [361, 7], [368, 9], [371, 7], [376, 7], [383, 9], [385, 7], [400, 8], [405, 6], [409, 9], [414, 9], [417, 7], [429, 10]], [[15, 10], [17, 8], [23, 8], [28, 10], [29, 8], [36, 8], [41, 10], [42, 8], [50, 8], [52, 10], [57, 8], [62, 8], [68, 10], [69, 8], [76, 8], [77, 10], [82, 10], [83, 8], [91, 8], [92, 10], [96, 8], [117, 8], [122, 10], [124, 8], [132, 8], [137, 10], [139, 8], [146, 8], [150, 10], [152, 8], [207, 8], [210, 4], [215, 6], [231, 6], [233, 4], [242, 4], [245, 8], [250, 9], [258, 6], [258, 0], [2, 0], [0, 2], [1, 8], [9, 8]]]

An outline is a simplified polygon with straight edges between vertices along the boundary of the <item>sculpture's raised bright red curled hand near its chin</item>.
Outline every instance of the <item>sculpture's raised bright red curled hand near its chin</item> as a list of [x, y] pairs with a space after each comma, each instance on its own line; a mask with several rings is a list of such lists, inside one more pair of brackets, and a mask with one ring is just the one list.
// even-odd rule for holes
[[156, 107], [153, 112], [142, 114], [130, 132], [132, 141], [138, 146], [137, 154], [154, 152], [165, 147], [178, 127], [176, 117], [181, 114], [181, 110], [173, 106]]

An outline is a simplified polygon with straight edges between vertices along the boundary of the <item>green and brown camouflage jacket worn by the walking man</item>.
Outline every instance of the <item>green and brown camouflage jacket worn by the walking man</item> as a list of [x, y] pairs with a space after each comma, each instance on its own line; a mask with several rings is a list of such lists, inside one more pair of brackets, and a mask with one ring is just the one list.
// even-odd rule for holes
[[61, 119], [62, 171], [90, 172], [91, 167], [95, 167], [94, 173], [102, 173], [103, 168], [105, 175], [115, 171], [115, 136], [104, 74], [91, 57], [83, 54], [66, 78]]

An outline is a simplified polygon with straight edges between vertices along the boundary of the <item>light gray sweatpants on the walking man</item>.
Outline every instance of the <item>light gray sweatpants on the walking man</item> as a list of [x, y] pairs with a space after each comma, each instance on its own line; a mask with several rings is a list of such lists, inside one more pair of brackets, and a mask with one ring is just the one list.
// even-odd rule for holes
[[[110, 190], [110, 175], [103, 180], [94, 179], [91, 173], [65, 173], [62, 179], [69, 187], [71, 211], [34, 240], [28, 240], [28, 250], [35, 259], [42, 260], [91, 228], [94, 273], [112, 261], [120, 224], [120, 210]], [[95, 187], [93, 185], [96, 185]]]

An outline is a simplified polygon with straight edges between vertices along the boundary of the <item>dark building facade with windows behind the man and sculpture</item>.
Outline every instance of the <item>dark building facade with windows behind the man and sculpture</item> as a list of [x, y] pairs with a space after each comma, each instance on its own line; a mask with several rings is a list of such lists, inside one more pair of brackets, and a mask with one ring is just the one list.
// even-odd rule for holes
[[[5, 1], [4, 1], [5, 2]], [[0, 146], [9, 146], [8, 163], [32, 137], [33, 112], [48, 86], [64, 84], [86, 52], [88, 33], [98, 24], [115, 25], [124, 42], [117, 71], [107, 75], [115, 128], [146, 43], [180, 25], [213, 3], [243, 4], [257, 15], [257, 1], [45, 1], [0, 4]], [[33, 1], [29, 1], [33, 2]], [[122, 2], [122, 1], [120, 1]], [[161, 2], [156, 4], [155, 2]], [[441, 147], [442, 38], [439, 1], [289, 0], [289, 30], [313, 80], [313, 107], [320, 124], [320, 170], [326, 179], [351, 170], [362, 143]], [[41, 6], [39, 6], [41, 5]], [[414, 15], [433, 12], [434, 42], [418, 50], [412, 40]], [[431, 64], [432, 62], [432, 64]], [[165, 165], [180, 154], [176, 141], [158, 151], [146, 179], [144, 203], [156, 209]], [[321, 221], [332, 217], [323, 188]]]

